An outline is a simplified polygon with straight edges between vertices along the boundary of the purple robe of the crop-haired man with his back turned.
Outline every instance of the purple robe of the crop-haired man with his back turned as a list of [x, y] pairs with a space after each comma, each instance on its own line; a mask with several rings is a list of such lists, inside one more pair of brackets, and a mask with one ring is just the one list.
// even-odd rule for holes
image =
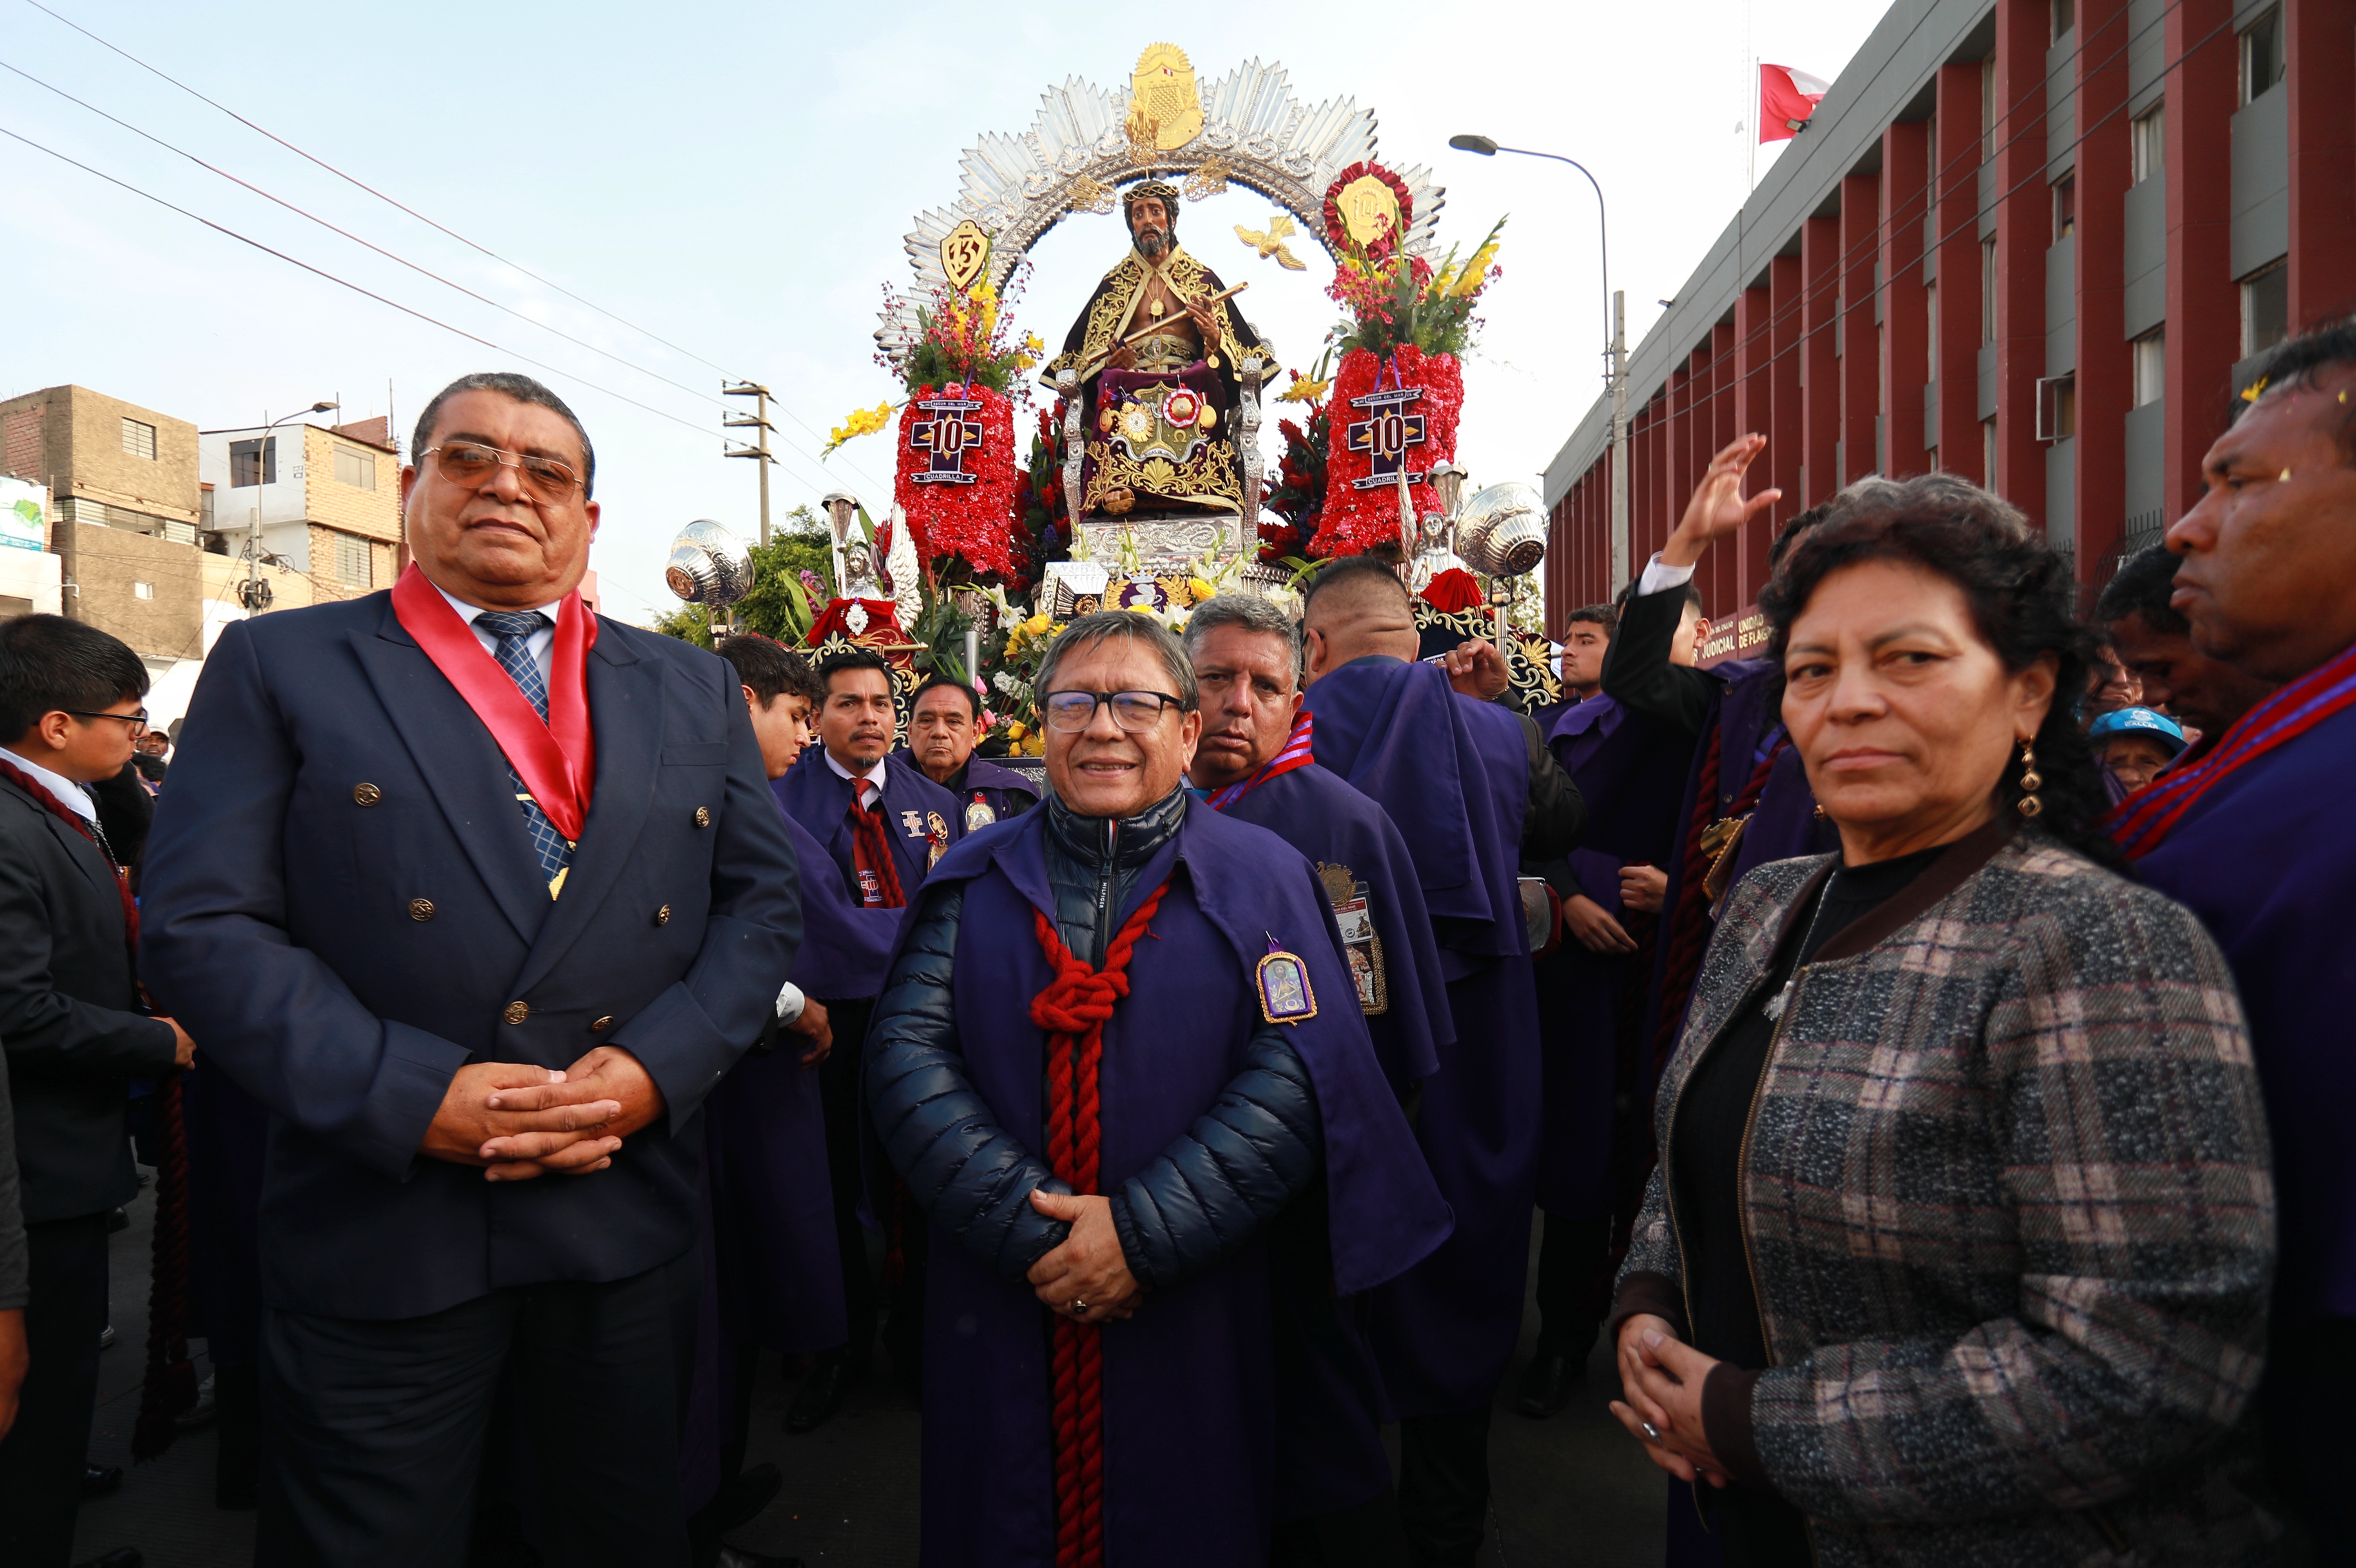
[[1376, 1293], [1374, 1347], [1397, 1415], [1477, 1410], [1522, 1328], [1538, 1177], [1538, 996], [1520, 892], [1529, 751], [1510, 711], [1458, 697], [1432, 664], [1352, 659], [1308, 706], [1317, 763], [1407, 838], [1456, 1019], [1416, 1116], [1456, 1231]]

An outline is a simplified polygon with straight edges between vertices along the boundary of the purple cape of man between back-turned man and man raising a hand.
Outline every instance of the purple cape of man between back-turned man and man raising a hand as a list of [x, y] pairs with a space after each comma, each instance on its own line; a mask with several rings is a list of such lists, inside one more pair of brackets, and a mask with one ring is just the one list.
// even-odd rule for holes
[[[1621, 918], [1621, 866], [1668, 866], [1677, 848], [1677, 791], [1694, 744], [1663, 723], [1590, 697], [1555, 718], [1548, 746], [1579, 784], [1588, 826], [1569, 855], [1579, 890]], [[1546, 1142], [1538, 1208], [1564, 1217], [1612, 1212], [1612, 1123], [1619, 1092], [1621, 1008], [1647, 954], [1595, 954], [1564, 935], [1536, 961], [1546, 1052]], [[1640, 1003], [1635, 1003], [1640, 1005]]]

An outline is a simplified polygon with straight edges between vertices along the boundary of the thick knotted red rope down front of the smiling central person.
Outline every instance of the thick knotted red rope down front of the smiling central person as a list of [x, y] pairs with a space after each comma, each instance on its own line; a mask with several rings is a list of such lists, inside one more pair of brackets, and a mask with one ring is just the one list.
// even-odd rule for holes
[[[1032, 998], [1032, 1022], [1046, 1031], [1046, 1161], [1077, 1194], [1098, 1189], [1103, 1156], [1103, 1102], [1098, 1069], [1105, 1062], [1105, 1022], [1129, 996], [1129, 956], [1145, 925], [1162, 909], [1154, 888], [1105, 949], [1105, 968], [1091, 970], [1055, 935], [1055, 923], [1037, 909], [1032, 928], [1055, 977]], [[1103, 1568], [1105, 1563], [1105, 1337], [1096, 1323], [1055, 1316], [1053, 1356], [1055, 1422], [1055, 1568]]]

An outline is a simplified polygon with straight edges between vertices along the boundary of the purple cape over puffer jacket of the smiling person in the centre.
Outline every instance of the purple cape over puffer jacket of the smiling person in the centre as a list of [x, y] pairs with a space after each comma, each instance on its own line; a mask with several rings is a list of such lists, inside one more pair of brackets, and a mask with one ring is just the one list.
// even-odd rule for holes
[[[935, 876], [966, 885], [954, 1008], [973, 1088], [1044, 1149], [1044, 1045], [1030, 998], [1048, 968], [1046, 812], [975, 833]], [[1138, 878], [1169, 876], [1131, 994], [1105, 1024], [1103, 1180], [1114, 1189], [1183, 1135], [1242, 1071], [1270, 939], [1308, 965], [1317, 1017], [1291, 1026], [1324, 1121], [1331, 1283], [1366, 1290], [1449, 1229], [1407, 1118], [1350, 1005], [1333, 911], [1279, 838], [1199, 800]], [[1121, 911], [1121, 918], [1129, 909]], [[1272, 1528], [1268, 1238], [1154, 1290], [1105, 1335], [1105, 1552], [1124, 1568], [1258, 1563]], [[1055, 1559], [1048, 1316], [1030, 1285], [938, 1236], [926, 1285], [924, 1561], [1023, 1568]]]

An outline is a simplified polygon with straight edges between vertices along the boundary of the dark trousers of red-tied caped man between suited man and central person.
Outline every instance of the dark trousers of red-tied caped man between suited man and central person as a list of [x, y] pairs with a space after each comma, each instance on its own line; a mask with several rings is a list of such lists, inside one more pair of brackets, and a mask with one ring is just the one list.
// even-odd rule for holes
[[851, 1337], [843, 1351], [867, 1366], [874, 1356], [876, 1323], [884, 1323], [884, 1349], [893, 1373], [916, 1382], [924, 1368], [924, 1248], [926, 1220], [895, 1187], [879, 1194], [876, 1224], [884, 1227], [884, 1269], [867, 1260], [867, 1227], [860, 1224], [860, 1052], [867, 1045], [867, 1019], [874, 1001], [829, 1001], [827, 1024], [834, 1050], [818, 1067], [818, 1099], [827, 1116], [827, 1175], [834, 1182], [834, 1245], [843, 1264], [843, 1323]]

